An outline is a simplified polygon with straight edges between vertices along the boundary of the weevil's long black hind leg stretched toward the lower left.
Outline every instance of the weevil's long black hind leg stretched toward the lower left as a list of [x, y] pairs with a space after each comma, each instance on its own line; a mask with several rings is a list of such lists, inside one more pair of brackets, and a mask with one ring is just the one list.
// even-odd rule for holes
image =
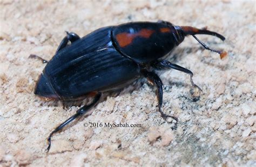
[[85, 106], [79, 108], [79, 110], [77, 110], [76, 114], [72, 115], [69, 119], [65, 120], [62, 124], [60, 124], [57, 128], [55, 128], [55, 129], [50, 133], [50, 135], [49, 135], [49, 137], [48, 137], [48, 139], [47, 139], [47, 140], [48, 140], [48, 143], [49, 143], [49, 145], [48, 145], [48, 147], [47, 147], [47, 149], [46, 149], [47, 152], [50, 150], [50, 147], [51, 147], [51, 137], [52, 137], [52, 135], [55, 134], [56, 132], [58, 132], [59, 130], [61, 130], [61, 129], [62, 129], [63, 127], [65, 127], [66, 125], [68, 125], [68, 124], [69, 124], [71, 121], [73, 121], [74, 119], [76, 119], [76, 118], [82, 116], [82, 115], [85, 114], [87, 111], [89, 111], [90, 108], [92, 108], [93, 106], [95, 106], [95, 105], [98, 103], [98, 101], [99, 101], [101, 95], [102, 95], [102, 93], [98, 93], [98, 94], [95, 96], [95, 98], [93, 99], [93, 101], [92, 101], [91, 104], [85, 105]]

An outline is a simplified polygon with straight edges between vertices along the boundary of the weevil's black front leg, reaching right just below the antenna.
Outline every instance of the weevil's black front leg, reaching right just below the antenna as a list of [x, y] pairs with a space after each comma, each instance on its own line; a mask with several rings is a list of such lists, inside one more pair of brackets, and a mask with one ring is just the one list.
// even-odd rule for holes
[[184, 67], [178, 66], [177, 64], [173, 64], [173, 63], [171, 63], [171, 62], [169, 62], [167, 60], [161, 60], [161, 61], [154, 62], [152, 64], [152, 67], [154, 67], [156, 69], [172, 68], [172, 69], [176, 69], [176, 70], [185, 72], [186, 74], [190, 75], [191, 85], [193, 87], [195, 87], [195, 88], [198, 88], [201, 92], [203, 92], [198, 85], [194, 84], [193, 79], [192, 79], [192, 77], [194, 75], [193, 72], [188, 70], [188, 69], [186, 69], [186, 68], [184, 68]]

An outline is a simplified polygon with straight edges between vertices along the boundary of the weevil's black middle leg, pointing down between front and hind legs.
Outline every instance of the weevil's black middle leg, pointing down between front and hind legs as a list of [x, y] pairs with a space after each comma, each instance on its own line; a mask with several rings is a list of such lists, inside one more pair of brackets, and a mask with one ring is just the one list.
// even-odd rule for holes
[[176, 117], [171, 116], [171, 115], [166, 115], [161, 110], [161, 106], [163, 104], [163, 83], [162, 83], [161, 79], [154, 72], [149, 72], [149, 71], [144, 70], [144, 71], [142, 71], [142, 74], [147, 78], [147, 81], [149, 81], [149, 83], [151, 83], [154, 86], [157, 86], [158, 111], [161, 113], [161, 117], [165, 121], [167, 121], [167, 118], [169, 118], [169, 117], [176, 120], [176, 123], [175, 123], [174, 127], [172, 128], [172, 129], [176, 129], [178, 119]]

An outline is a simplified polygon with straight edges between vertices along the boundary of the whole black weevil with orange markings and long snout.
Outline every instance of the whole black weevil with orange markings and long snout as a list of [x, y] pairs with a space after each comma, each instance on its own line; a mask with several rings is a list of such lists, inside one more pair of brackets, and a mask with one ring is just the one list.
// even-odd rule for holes
[[[80, 38], [76, 33], [66, 32], [55, 55], [50, 61], [39, 56], [47, 63], [35, 88], [35, 95], [55, 100], [77, 100], [93, 96], [89, 105], [84, 105], [55, 128], [48, 137], [48, 148], [51, 137], [72, 120], [81, 117], [95, 106], [102, 93], [113, 91], [136, 81], [140, 77], [157, 87], [158, 111], [166, 120], [178, 119], [161, 111], [163, 104], [163, 83], [154, 70], [176, 69], [190, 75], [191, 85], [193, 72], [164, 59], [177, 47], [187, 35], [192, 35], [205, 49], [217, 52], [222, 58], [227, 53], [214, 50], [201, 42], [195, 35], [207, 34], [225, 40], [223, 35], [208, 31], [206, 28], [176, 26], [168, 21], [131, 22], [117, 26], [107, 26], [93, 31]], [[71, 42], [71, 44], [68, 44]]]

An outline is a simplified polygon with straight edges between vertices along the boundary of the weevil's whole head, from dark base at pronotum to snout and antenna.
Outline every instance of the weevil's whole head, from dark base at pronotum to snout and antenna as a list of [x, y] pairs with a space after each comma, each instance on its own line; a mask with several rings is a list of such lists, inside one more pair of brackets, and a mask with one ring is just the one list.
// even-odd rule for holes
[[218, 37], [224, 41], [225, 37], [223, 35], [221, 35], [217, 32], [208, 31], [208, 30], [206, 30], [206, 28], [199, 29], [199, 28], [195, 28], [195, 27], [191, 27], [191, 26], [174, 26], [174, 28], [177, 31], [177, 34], [175, 34], [175, 35], [176, 35], [178, 43], [181, 43], [184, 40], [184, 38], [186, 37], [186, 35], [192, 35], [205, 49], [211, 50], [212, 52], [217, 52], [218, 54], [220, 54], [221, 59], [227, 55], [226, 52], [221, 52], [220, 50], [214, 50], [214, 49], [209, 48], [208, 46], [205, 45], [205, 43], [200, 41], [195, 36], [197, 34], [213, 35], [213, 36]]

